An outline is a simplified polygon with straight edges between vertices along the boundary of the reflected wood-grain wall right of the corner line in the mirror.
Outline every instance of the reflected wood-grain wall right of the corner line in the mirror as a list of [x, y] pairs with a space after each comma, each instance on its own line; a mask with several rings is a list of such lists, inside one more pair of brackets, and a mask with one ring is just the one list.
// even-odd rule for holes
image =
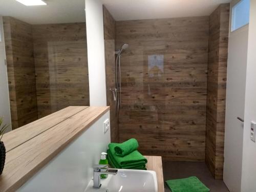
[[86, 24], [33, 25], [38, 117], [89, 105]]

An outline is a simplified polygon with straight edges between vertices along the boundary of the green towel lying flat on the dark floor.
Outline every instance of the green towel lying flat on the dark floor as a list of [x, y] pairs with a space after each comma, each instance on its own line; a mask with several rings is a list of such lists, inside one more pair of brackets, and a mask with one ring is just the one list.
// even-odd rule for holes
[[172, 192], [208, 192], [208, 189], [197, 177], [165, 181]]

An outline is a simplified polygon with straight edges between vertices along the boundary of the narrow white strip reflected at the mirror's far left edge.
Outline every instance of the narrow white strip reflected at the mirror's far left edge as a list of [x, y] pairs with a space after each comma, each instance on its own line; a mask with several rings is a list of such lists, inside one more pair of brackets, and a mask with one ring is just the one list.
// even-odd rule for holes
[[5, 58], [3, 18], [0, 16], [0, 117], [4, 118], [4, 124], [9, 124], [7, 131], [11, 131], [11, 112]]

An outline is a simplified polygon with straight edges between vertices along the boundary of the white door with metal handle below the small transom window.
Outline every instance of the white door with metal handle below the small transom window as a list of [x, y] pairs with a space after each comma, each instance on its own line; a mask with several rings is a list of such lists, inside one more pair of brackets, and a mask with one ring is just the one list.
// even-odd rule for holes
[[224, 182], [230, 192], [241, 191], [243, 122], [248, 25], [229, 33]]

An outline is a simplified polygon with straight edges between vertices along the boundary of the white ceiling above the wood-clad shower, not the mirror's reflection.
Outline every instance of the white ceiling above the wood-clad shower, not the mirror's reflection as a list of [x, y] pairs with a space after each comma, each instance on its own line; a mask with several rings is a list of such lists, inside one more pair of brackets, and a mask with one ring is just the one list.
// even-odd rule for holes
[[230, 0], [102, 0], [115, 20], [210, 15]]

